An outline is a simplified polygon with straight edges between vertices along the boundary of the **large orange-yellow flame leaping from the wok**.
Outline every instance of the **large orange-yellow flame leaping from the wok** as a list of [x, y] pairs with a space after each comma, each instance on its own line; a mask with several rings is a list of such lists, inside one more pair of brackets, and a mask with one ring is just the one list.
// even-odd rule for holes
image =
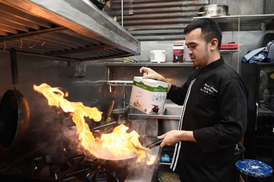
[[136, 162], [141, 162], [148, 157], [148, 165], [155, 161], [155, 156], [149, 155], [146, 148], [143, 148], [137, 132], [127, 133], [128, 127], [119, 125], [113, 129], [112, 133], [102, 134], [101, 138], [94, 138], [84, 117], [89, 117], [94, 121], [100, 121], [102, 112], [96, 107], [86, 107], [82, 102], [70, 102], [64, 97], [68, 96], [58, 88], [52, 88], [47, 84], [40, 86], [33, 85], [33, 88], [42, 93], [47, 99], [48, 104], [61, 107], [64, 112], [74, 113], [73, 121], [77, 126], [81, 144], [85, 150], [89, 151], [93, 156], [102, 159], [126, 159], [138, 156]]

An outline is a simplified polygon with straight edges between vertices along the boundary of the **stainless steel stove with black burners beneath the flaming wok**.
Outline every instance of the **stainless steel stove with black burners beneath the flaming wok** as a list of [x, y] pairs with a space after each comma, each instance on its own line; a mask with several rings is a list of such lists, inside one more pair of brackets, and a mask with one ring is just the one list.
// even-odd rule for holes
[[[157, 138], [146, 138], [143, 145]], [[150, 154], [160, 156], [156, 147]], [[155, 181], [159, 162], [151, 166], [146, 163], [116, 165], [115, 161], [95, 159], [85, 160], [84, 155], [66, 150], [58, 142], [29, 155], [18, 163], [6, 168], [0, 174], [0, 181], [67, 181], [67, 182], [123, 182]]]

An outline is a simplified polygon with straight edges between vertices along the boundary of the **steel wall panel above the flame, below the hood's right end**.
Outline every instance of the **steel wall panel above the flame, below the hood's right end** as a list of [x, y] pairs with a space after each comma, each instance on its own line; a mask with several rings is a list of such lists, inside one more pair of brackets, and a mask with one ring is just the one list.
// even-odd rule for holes
[[[76, 63], [68, 67], [66, 62], [60, 61], [60, 87], [68, 91], [67, 100], [83, 102], [86, 106], [97, 107], [107, 116], [113, 92], [108, 92], [108, 69], [107, 61], [87, 61], [81, 64], [86, 65], [86, 76], [75, 77]], [[80, 65], [81, 65], [80, 64]]]

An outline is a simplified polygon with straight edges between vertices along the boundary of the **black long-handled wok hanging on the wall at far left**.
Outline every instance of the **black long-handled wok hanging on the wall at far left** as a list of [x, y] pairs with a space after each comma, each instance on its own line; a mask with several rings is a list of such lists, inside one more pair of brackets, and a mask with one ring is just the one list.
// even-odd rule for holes
[[27, 133], [29, 106], [26, 98], [16, 90], [18, 84], [16, 50], [11, 48], [12, 83], [14, 90], [8, 90], [0, 103], [0, 145], [8, 149]]

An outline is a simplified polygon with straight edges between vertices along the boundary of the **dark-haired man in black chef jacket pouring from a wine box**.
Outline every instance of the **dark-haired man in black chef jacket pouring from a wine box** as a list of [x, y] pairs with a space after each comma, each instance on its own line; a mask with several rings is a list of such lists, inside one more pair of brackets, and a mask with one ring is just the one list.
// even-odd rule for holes
[[235, 144], [247, 126], [248, 89], [241, 76], [220, 56], [221, 29], [202, 18], [184, 30], [188, 54], [197, 67], [182, 87], [170, 84], [150, 68], [143, 78], [168, 83], [167, 99], [183, 106], [179, 130], [161, 136], [164, 145], [176, 144], [170, 168], [186, 182], [230, 180]]

